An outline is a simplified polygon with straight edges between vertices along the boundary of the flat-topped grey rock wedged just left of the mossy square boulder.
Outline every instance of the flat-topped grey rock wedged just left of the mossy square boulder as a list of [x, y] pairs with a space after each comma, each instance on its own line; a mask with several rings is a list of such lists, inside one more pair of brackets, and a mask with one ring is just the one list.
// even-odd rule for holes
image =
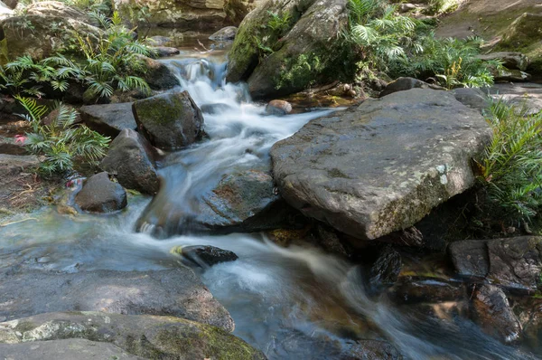
[[117, 137], [125, 128], [137, 128], [131, 102], [88, 105], [79, 109], [79, 112], [89, 128], [108, 137]]

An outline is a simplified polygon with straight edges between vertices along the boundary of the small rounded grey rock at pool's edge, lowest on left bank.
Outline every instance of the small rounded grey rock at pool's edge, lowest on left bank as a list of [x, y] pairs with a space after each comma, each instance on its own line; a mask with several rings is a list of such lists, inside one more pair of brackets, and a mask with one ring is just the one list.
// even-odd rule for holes
[[128, 204], [126, 191], [109, 180], [106, 172], [91, 176], [75, 196], [75, 203], [90, 213], [111, 213], [124, 209]]

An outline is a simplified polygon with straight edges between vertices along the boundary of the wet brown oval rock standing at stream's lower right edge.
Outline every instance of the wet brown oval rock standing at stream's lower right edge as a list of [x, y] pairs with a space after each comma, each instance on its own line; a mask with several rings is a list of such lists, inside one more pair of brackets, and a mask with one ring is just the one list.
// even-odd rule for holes
[[519, 340], [521, 326], [518, 317], [501, 289], [493, 285], [476, 287], [471, 307], [473, 320], [484, 332], [504, 343]]

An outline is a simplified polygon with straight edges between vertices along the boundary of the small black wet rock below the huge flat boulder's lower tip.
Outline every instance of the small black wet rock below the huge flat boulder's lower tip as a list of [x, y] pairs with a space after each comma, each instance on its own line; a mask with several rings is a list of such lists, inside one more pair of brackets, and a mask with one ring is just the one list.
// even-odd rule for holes
[[401, 272], [401, 254], [391, 245], [384, 247], [369, 270], [369, 284], [372, 288], [391, 285]]

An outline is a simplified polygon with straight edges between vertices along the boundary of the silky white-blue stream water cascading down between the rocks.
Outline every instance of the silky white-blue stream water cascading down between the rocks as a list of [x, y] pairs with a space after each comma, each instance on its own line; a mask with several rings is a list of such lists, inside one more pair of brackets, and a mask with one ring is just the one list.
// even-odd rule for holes
[[[204, 114], [208, 140], [164, 158], [164, 186], [150, 211], [165, 211], [166, 218], [168, 209], [197, 204], [198, 196], [222, 175], [268, 166], [268, 150], [277, 140], [332, 111], [265, 116], [264, 107], [250, 101], [243, 85], [224, 82], [226, 62], [220, 52], [183, 53], [164, 62], [178, 72], [182, 90], [203, 109], [221, 104], [214, 105], [214, 114]], [[180, 266], [169, 252], [173, 246], [210, 244], [236, 252], [239, 259], [201, 270], [201, 279], [228, 308], [236, 323], [234, 334], [271, 359], [349, 358], [368, 339], [386, 340], [411, 359], [528, 358], [484, 336], [468, 320], [439, 321], [404, 312], [383, 298], [369, 298], [358, 266], [308, 246], [285, 249], [264, 235], [248, 234], [158, 240], [149, 234], [153, 223], [135, 232], [148, 205], [149, 199], [131, 196], [126, 211], [114, 215], [71, 217], [43, 209], [0, 228], [0, 267], [23, 263], [63, 271], [162, 270]]]

